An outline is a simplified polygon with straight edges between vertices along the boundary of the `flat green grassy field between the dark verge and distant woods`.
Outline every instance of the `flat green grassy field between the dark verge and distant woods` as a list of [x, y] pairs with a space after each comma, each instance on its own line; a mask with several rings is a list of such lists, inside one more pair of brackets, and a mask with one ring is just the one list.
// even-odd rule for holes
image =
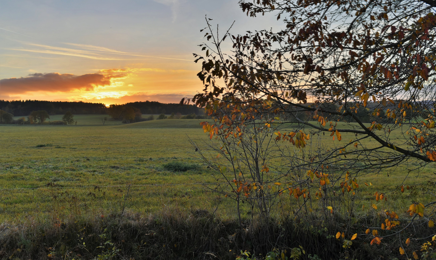
[[[109, 121], [103, 126], [98, 123], [100, 117], [77, 115], [78, 125], [74, 126], [0, 126], [3, 148], [0, 150], [3, 198], [0, 221], [18, 216], [44, 218], [54, 212], [58, 215], [59, 212], [109, 213], [121, 211], [124, 206], [139, 213], [169, 206], [185, 210], [214, 209], [216, 195], [204, 192], [201, 185], [151, 186], [216, 181], [209, 169], [192, 159], [194, 149], [188, 137], [197, 142], [209, 140], [201, 130], [200, 120], [153, 120], [117, 126]], [[343, 139], [347, 140], [346, 134]], [[200, 168], [173, 172], [164, 168], [169, 162], [195, 163]], [[406, 184], [425, 183], [427, 179], [422, 176], [432, 172], [428, 167], [420, 177], [410, 176]], [[395, 171], [389, 177], [365, 176], [361, 183], [373, 185], [361, 185], [362, 201], [374, 202], [372, 194], [376, 190], [394, 189], [406, 174]], [[395, 192], [396, 199], [382, 202], [383, 207], [405, 207], [417, 195], [416, 190]], [[224, 205], [220, 207], [221, 215], [234, 216], [231, 201], [223, 201], [221, 205]]]

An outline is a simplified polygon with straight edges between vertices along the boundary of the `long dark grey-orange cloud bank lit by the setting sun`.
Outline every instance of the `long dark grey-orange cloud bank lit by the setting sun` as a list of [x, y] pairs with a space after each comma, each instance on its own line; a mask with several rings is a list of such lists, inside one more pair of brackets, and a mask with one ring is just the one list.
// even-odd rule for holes
[[20, 94], [31, 91], [69, 92], [72, 90], [94, 90], [112, 84], [112, 80], [129, 76], [127, 70], [100, 70], [99, 73], [84, 75], [61, 73], [34, 73], [29, 77], [0, 80], [2, 94]]

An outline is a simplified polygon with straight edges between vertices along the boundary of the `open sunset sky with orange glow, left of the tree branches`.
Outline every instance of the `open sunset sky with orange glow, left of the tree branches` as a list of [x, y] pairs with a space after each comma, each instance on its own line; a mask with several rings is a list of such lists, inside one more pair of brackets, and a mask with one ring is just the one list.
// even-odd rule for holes
[[203, 89], [205, 15], [235, 35], [278, 26], [237, 0], [1, 1], [0, 100], [178, 103]]

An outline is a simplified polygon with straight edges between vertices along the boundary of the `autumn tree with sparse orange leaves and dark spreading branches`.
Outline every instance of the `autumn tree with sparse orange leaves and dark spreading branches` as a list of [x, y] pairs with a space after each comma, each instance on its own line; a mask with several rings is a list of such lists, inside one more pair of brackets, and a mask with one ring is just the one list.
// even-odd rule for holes
[[[436, 161], [436, 1], [241, 0], [239, 5], [253, 19], [274, 15], [282, 23], [278, 30], [219, 34], [207, 19], [201, 30], [206, 30], [204, 53], [194, 57], [202, 65], [198, 77], [204, 91], [181, 103], [206, 108], [213, 122], [204, 122], [203, 129], [219, 140], [212, 149], [219, 156], [233, 153], [246, 160], [239, 146], [245, 142], [248, 150], [262, 151], [266, 147], [257, 140], [272, 134], [276, 152], [255, 162], [253, 172], [281, 173], [271, 194], [289, 189], [297, 199], [317, 197], [325, 216], [335, 207], [325, 195], [334, 196], [339, 187], [352, 198], [361, 174], [419, 172]], [[232, 49], [223, 49], [223, 41], [231, 41]], [[232, 160], [225, 161], [236, 173], [233, 180], [222, 174], [221, 162], [208, 161], [221, 180], [242, 187], [226, 195], [250, 199], [259, 183], [244, 178]], [[267, 182], [274, 187], [273, 178]], [[386, 199], [377, 193], [377, 201], [380, 194]], [[298, 212], [307, 206], [299, 205], [304, 206]], [[413, 203], [411, 217], [422, 217], [424, 206]], [[395, 214], [387, 217], [389, 230], [394, 219]], [[373, 234], [371, 245], [379, 244], [383, 237]]]

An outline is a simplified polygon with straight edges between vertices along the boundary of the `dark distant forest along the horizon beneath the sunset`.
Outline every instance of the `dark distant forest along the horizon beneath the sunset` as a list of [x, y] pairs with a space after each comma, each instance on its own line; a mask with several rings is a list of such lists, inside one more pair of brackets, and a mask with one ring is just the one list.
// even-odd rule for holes
[[[179, 103], [160, 103], [156, 101], [126, 103], [125, 107], [134, 107], [143, 114], [171, 114], [182, 115], [195, 113], [203, 114], [203, 109], [194, 105], [181, 105]], [[65, 114], [70, 111], [73, 114], [107, 114], [107, 108], [103, 103], [43, 101], [43, 100], [0, 100], [0, 110], [11, 113], [14, 116], [28, 116], [32, 111], [45, 110], [50, 115]]]

